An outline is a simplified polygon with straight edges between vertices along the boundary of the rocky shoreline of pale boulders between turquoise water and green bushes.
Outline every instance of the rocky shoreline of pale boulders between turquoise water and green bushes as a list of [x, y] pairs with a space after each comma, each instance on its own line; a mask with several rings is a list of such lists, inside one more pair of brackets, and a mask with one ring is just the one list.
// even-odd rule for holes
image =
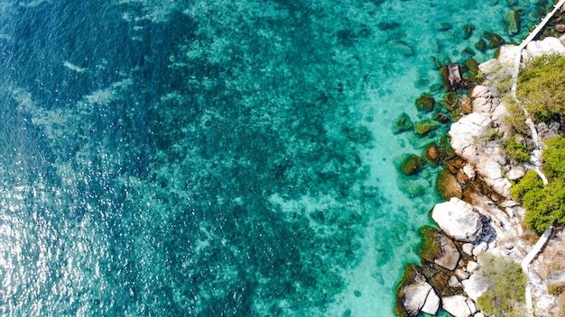
[[[528, 60], [548, 53], [565, 55], [565, 36], [532, 41], [524, 50], [503, 46], [496, 59], [479, 65], [486, 80], [470, 91], [472, 112], [453, 123], [449, 130], [450, 146], [456, 154], [446, 164], [449, 186], [460, 189], [431, 211], [440, 231], [422, 231], [421, 267], [405, 268], [397, 290], [398, 314], [435, 315], [441, 307], [455, 317], [485, 316], [478, 311], [477, 299], [489, 289], [489, 283], [481, 273], [479, 256], [488, 253], [521, 263], [532, 249], [535, 235], [523, 225], [526, 211], [510, 195], [511, 181], [523, 177], [526, 167], [507, 159], [501, 146], [505, 137], [490, 137], [511, 134], [507, 133], [510, 127], [505, 122], [510, 113], [497, 92], [500, 88], [494, 85], [501, 82], [501, 77], [511, 76], [505, 69], [514, 63], [515, 54]], [[556, 136], [559, 129], [559, 123], [536, 126], [541, 140]], [[522, 141], [524, 145], [533, 145], [533, 140]], [[561, 232], [558, 229], [555, 234]], [[546, 250], [551, 248], [555, 257], [560, 245], [550, 242]], [[543, 258], [542, 254], [528, 270], [535, 316], [560, 316], [565, 312], [560, 311], [558, 297], [548, 292], [548, 286], [565, 285], [565, 272], [560, 274], [561, 269], [541, 275]]]

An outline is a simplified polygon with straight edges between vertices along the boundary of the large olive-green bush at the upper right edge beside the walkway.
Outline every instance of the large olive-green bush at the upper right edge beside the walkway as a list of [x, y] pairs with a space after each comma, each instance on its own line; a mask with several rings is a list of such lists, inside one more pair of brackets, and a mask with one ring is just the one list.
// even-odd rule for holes
[[565, 57], [551, 54], [529, 62], [516, 95], [536, 121], [559, 121], [565, 114]]

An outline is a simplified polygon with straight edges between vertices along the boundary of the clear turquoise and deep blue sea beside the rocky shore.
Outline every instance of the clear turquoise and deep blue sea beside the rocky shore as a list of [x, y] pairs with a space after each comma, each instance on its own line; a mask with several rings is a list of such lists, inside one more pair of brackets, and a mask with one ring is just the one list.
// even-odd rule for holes
[[0, 315], [393, 316], [449, 129], [394, 121], [536, 5], [0, 0]]

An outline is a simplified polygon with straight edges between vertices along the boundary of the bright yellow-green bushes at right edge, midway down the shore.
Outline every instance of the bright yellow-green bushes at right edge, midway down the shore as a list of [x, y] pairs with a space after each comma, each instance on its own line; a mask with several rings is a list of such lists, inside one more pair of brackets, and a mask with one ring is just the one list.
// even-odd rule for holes
[[534, 171], [529, 171], [511, 188], [514, 199], [521, 201], [528, 213], [526, 224], [541, 234], [551, 222], [565, 222], [565, 139], [557, 137], [546, 140], [543, 151], [543, 169], [549, 184], [543, 186]]

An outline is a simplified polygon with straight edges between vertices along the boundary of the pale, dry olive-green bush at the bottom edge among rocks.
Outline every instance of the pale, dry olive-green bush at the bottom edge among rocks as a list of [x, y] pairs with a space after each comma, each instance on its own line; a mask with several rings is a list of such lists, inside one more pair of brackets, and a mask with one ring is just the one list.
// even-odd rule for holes
[[478, 297], [481, 311], [491, 316], [520, 316], [523, 312], [524, 287], [527, 276], [511, 259], [496, 258], [485, 253], [479, 258], [480, 272], [491, 288]]

